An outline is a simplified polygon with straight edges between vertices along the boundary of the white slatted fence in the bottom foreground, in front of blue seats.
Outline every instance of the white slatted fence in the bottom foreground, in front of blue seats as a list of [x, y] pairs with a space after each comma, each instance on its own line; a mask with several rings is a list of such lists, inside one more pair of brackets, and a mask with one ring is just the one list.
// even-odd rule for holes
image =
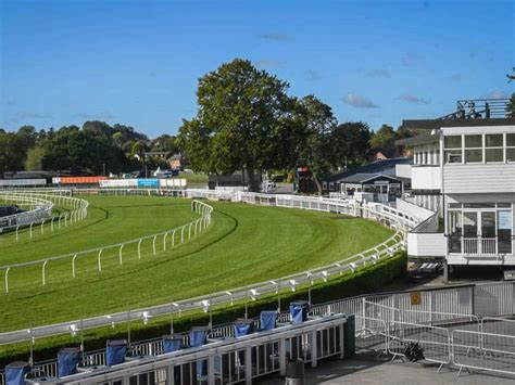
[[[301, 324], [279, 325], [271, 331], [238, 338], [218, 338], [210, 334], [208, 345], [172, 354], [164, 354], [162, 345], [148, 344], [135, 347], [126, 362], [110, 368], [104, 367], [105, 356], [88, 354], [84, 357], [79, 373], [56, 378], [56, 367], [38, 365], [35, 373], [43, 377], [34, 378], [33, 383], [133, 384], [141, 381], [197, 384], [200, 381], [205, 384], [251, 384], [263, 375], [286, 374], [288, 359], [303, 359], [311, 367], [316, 367], [318, 360], [325, 358], [343, 358], [346, 323], [346, 316], [332, 315], [310, 319]], [[189, 346], [186, 336], [183, 335], [183, 344]]]

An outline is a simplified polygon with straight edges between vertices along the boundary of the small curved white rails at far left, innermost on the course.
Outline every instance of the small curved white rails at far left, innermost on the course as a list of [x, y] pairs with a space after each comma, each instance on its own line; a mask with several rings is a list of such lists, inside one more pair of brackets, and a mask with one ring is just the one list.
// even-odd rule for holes
[[[0, 193], [0, 198], [11, 202], [32, 202], [37, 207], [33, 210], [21, 213], [14, 216], [0, 218], [0, 233], [14, 231], [15, 240], [20, 240], [20, 230], [28, 229], [28, 239], [33, 239], [33, 228], [36, 226], [41, 234], [45, 234], [45, 226], [50, 227], [50, 232], [61, 227], [67, 227], [83, 220], [88, 215], [89, 203], [72, 196], [66, 196], [70, 192], [60, 191], [58, 193], [34, 192], [34, 191], [5, 191]], [[54, 205], [70, 208], [68, 211], [52, 216]]]

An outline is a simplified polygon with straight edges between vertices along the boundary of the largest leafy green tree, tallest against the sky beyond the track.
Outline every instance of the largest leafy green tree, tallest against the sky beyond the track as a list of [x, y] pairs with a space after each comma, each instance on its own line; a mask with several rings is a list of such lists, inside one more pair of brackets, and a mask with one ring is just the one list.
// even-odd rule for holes
[[185, 120], [177, 143], [194, 170], [248, 172], [255, 191], [254, 171], [277, 167], [278, 143], [290, 100], [288, 84], [251, 62], [236, 59], [199, 80], [198, 113]]

